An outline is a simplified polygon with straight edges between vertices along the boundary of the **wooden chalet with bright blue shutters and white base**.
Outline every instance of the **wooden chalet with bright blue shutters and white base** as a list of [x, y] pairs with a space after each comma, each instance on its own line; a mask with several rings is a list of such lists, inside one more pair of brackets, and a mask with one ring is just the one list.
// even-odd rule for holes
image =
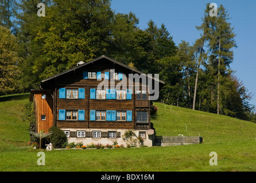
[[[124, 85], [117, 89], [124, 79], [128, 83], [129, 74], [143, 73], [102, 55], [42, 80], [40, 89], [30, 93], [35, 132], [48, 132], [55, 125], [65, 132], [68, 142], [112, 144], [116, 140], [125, 145], [122, 135], [132, 129], [145, 145], [152, 146], [148, 90], [142, 90], [142, 83], [135, 81], [131, 89]], [[98, 88], [103, 81], [108, 81], [109, 89]], [[163, 85], [159, 80], [160, 89]], [[139, 90], [135, 91], [135, 86]]]

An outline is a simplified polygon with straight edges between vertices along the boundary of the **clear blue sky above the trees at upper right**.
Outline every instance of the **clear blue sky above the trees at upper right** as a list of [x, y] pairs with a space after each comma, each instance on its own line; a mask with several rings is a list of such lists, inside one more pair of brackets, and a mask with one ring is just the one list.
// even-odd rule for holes
[[230, 67], [236, 77], [254, 94], [250, 104], [256, 106], [256, 1], [255, 0], [112, 0], [111, 8], [117, 13], [135, 13], [139, 28], [144, 30], [152, 19], [158, 27], [162, 23], [168, 29], [178, 46], [181, 40], [192, 43], [200, 37], [195, 26], [201, 25], [201, 18], [207, 3], [223, 5], [234, 27], [237, 48]]

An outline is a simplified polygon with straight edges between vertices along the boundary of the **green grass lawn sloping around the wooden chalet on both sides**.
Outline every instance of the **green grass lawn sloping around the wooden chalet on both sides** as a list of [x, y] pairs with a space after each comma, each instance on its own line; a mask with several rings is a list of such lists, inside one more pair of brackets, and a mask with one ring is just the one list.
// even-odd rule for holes
[[[123, 149], [31, 149], [22, 121], [29, 94], [0, 97], [0, 171], [256, 171], [256, 124], [158, 104], [152, 122], [158, 136], [200, 136], [202, 144]], [[186, 130], [187, 126], [187, 130]], [[38, 166], [37, 153], [45, 153]], [[210, 152], [218, 154], [211, 166]]]

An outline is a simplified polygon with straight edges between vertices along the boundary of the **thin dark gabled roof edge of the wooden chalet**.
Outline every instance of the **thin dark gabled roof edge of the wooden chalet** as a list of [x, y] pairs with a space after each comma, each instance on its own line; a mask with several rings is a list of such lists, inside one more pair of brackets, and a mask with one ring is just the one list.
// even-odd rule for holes
[[[110, 57], [107, 57], [106, 55], [102, 55], [102, 56], [100, 56], [100, 57], [97, 57], [97, 58], [95, 58], [95, 59], [92, 59], [91, 61], [88, 61], [88, 62], [83, 63], [83, 64], [81, 64], [81, 65], [75, 66], [75, 67], [73, 67], [72, 69], [65, 70], [65, 71], [63, 71], [63, 72], [61, 72], [61, 73], [59, 73], [59, 74], [53, 75], [52, 77], [43, 79], [41, 82], [49, 81], [49, 80], [51, 80], [51, 79], [53, 79], [53, 78], [59, 77], [60, 75], [69, 73], [69, 72], [72, 71], [72, 70], [76, 70], [76, 69], [79, 69], [80, 67], [83, 67], [83, 66], [86, 66], [86, 65], [88, 65], [88, 64], [90, 64], [90, 63], [96, 62], [96, 61], [98, 61], [99, 59], [102, 59], [102, 58], [106, 58], [106, 59], [108, 59], [108, 60], [111, 61], [111, 62], [117, 63], [117, 64], [120, 65], [120, 66], [123, 66], [123, 67], [125, 67], [125, 68], [127, 68], [127, 69], [130, 69], [130, 70], [134, 71], [135, 73], [144, 74], [144, 73], [142, 73], [141, 71], [139, 71], [139, 70], [137, 70], [137, 69], [134, 69], [133, 67], [130, 67], [130, 66], [127, 66], [127, 65], [125, 65], [125, 64], [123, 64], [123, 63], [121, 63], [121, 62], [115, 61], [114, 59], [112, 59], [112, 58], [110, 58]], [[148, 77], [148, 75], [147, 75], [147, 77]], [[152, 77], [152, 79], [154, 79], [154, 77]], [[159, 79], [159, 82], [162, 83], [162, 84], [165, 83], [164, 81], [161, 81], [160, 79]]]

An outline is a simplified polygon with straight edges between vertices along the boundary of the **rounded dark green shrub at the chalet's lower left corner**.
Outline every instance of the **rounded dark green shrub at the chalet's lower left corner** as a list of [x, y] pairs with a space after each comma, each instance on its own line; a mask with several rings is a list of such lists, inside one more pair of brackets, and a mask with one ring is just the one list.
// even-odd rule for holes
[[49, 132], [52, 132], [51, 136], [49, 136], [49, 140], [52, 142], [53, 147], [62, 148], [65, 142], [67, 142], [67, 137], [63, 130], [52, 126]]

